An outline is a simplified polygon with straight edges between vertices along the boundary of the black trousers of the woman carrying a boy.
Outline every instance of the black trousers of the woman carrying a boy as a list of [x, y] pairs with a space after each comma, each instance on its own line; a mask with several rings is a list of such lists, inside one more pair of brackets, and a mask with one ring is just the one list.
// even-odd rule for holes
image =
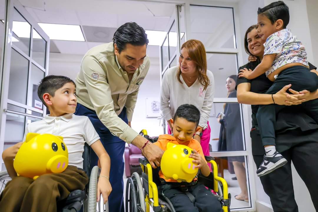
[[[284, 140], [296, 140], [297, 133], [283, 135]], [[264, 191], [270, 197], [274, 212], [298, 212], [294, 196], [291, 161], [293, 161], [296, 171], [305, 182], [315, 209], [318, 211], [318, 130], [315, 129], [301, 133], [301, 142], [297, 143], [296, 141], [292, 147], [280, 152], [287, 160], [287, 164], [270, 174], [260, 177]], [[257, 130], [251, 131], [251, 138], [252, 143], [254, 143], [252, 148], [257, 147], [255, 145], [256, 142], [261, 144], [261, 138]], [[259, 149], [252, 150], [259, 152]], [[262, 151], [264, 151], [264, 148]], [[263, 155], [253, 155], [253, 159], [256, 167], [259, 167], [263, 161]]]

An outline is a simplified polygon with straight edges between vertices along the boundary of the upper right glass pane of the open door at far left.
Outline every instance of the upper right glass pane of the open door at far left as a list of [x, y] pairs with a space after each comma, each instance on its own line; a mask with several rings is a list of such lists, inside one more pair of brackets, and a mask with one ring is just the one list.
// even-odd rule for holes
[[32, 58], [45, 68], [45, 47], [46, 41], [33, 29]]

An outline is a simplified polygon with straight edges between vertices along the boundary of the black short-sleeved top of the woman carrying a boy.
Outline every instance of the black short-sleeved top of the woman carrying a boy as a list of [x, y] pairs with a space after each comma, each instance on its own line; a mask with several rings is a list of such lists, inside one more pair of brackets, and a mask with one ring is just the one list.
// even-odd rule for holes
[[[243, 68], [254, 70], [259, 63], [260, 61], [249, 62], [239, 67], [239, 70]], [[310, 70], [317, 69], [314, 65], [310, 63], [308, 64], [309, 64]], [[250, 91], [254, 93], [265, 93], [269, 89], [269, 87], [273, 84], [272, 81], [267, 79], [265, 73], [252, 80], [246, 79], [244, 77], [240, 77], [240, 78], [238, 77], [235, 89], [237, 89], [237, 85], [241, 83], [250, 83], [251, 84]], [[256, 130], [258, 130], [256, 113], [259, 106], [252, 105], [251, 107], [252, 107], [252, 128], [256, 128]], [[294, 130], [294, 129], [300, 130], [302, 132], [307, 130], [317, 129], [318, 125], [316, 124], [315, 120], [313, 120], [310, 116], [308, 116], [305, 112], [302, 112], [302, 111], [303, 110], [300, 109], [300, 106], [297, 106], [297, 105], [286, 106], [285, 108], [283, 108], [276, 117], [276, 127], [275, 127], [276, 135], [285, 134], [287, 133], [286, 131]], [[277, 139], [278, 138], [283, 138], [283, 136], [277, 137]], [[278, 142], [284, 143], [284, 140], [278, 141]], [[282, 149], [280, 151], [283, 151], [283, 150], [286, 150], [286, 149]]]

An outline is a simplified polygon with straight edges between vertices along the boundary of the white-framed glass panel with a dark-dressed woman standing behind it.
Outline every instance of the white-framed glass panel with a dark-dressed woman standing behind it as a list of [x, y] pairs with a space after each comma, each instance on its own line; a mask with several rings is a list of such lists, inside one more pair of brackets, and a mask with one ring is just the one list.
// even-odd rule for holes
[[[229, 185], [231, 211], [252, 211], [255, 187], [251, 186], [254, 183], [253, 174], [249, 174], [253, 170], [247, 113], [249, 106], [238, 103], [235, 90], [241, 55], [237, 49], [239, 38], [236, 34], [235, 6], [188, 6], [188, 35], [204, 44], [208, 70], [214, 75], [214, 104], [209, 118], [210, 155], [215, 157], [218, 164], [218, 174]], [[237, 200], [236, 195], [243, 201]]]

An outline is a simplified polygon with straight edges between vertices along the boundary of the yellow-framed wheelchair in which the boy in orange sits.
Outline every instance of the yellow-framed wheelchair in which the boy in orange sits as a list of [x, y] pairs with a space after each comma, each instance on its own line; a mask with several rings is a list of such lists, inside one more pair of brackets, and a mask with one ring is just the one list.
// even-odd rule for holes
[[[149, 137], [147, 131], [144, 135], [150, 142], [157, 140], [156, 137]], [[225, 179], [218, 176], [218, 166], [211, 156], [205, 156], [205, 160], [211, 163], [213, 173], [205, 177], [198, 173], [198, 182], [204, 184], [209, 189], [216, 192], [216, 196], [224, 212], [230, 212], [231, 194], [228, 193], [228, 186]], [[126, 212], [149, 212], [150, 207], [154, 212], [175, 212], [172, 203], [163, 194], [158, 193], [157, 185], [160, 184], [159, 169], [152, 168], [146, 158], [139, 158], [142, 167], [142, 177], [135, 172], [127, 179], [126, 184]]]

